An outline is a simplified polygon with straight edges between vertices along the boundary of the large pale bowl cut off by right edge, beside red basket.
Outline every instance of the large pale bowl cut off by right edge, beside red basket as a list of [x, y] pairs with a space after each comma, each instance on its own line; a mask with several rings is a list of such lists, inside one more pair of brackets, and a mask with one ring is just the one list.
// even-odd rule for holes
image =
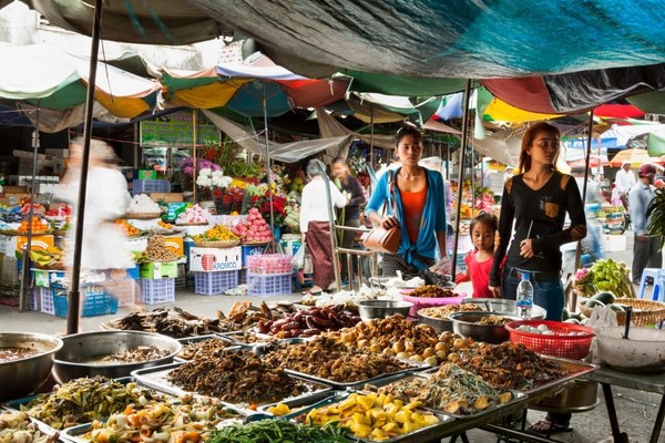
[[623, 339], [624, 328], [605, 328], [596, 333], [598, 357], [615, 369], [630, 372], [665, 372], [665, 330], [631, 328]]

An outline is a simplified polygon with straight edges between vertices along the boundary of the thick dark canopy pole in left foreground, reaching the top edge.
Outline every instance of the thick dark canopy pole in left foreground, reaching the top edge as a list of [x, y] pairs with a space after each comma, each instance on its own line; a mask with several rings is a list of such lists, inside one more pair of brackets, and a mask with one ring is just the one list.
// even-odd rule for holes
[[66, 333], [79, 332], [80, 317], [80, 278], [81, 278], [81, 243], [83, 240], [83, 220], [85, 218], [85, 194], [88, 187], [88, 165], [90, 163], [90, 140], [92, 138], [92, 111], [94, 107], [94, 90], [96, 84], [98, 53], [102, 32], [102, 0], [94, 2], [94, 19], [92, 22], [92, 44], [90, 48], [90, 73], [88, 78], [88, 94], [85, 97], [85, 124], [83, 126], [83, 158], [81, 159], [81, 181], [79, 182], [79, 207], [76, 209], [76, 234], [74, 241], [74, 261], [72, 264], [72, 282], [69, 292], [69, 309], [66, 315]]

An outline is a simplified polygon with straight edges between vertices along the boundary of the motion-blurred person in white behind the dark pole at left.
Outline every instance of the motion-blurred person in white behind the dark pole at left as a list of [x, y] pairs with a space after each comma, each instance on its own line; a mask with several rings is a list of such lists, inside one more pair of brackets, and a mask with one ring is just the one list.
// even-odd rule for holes
[[[75, 217], [79, 208], [79, 184], [83, 140], [75, 138], [70, 144], [70, 165], [63, 177], [62, 199], [73, 207], [71, 226], [66, 238], [66, 265], [71, 267], [75, 244]], [[81, 243], [81, 277], [96, 270], [108, 270], [111, 279], [96, 281], [125, 305], [133, 305], [135, 282], [127, 279], [126, 269], [136, 266], [131, 251], [125, 247], [126, 236], [114, 222], [125, 213], [130, 195], [127, 182], [117, 168], [119, 158], [113, 148], [99, 140], [90, 141], [88, 163], [88, 187], [85, 193], [85, 215]], [[71, 280], [71, 279], [70, 279]], [[96, 280], [96, 279], [95, 279]], [[81, 297], [83, 301], [83, 297]]]

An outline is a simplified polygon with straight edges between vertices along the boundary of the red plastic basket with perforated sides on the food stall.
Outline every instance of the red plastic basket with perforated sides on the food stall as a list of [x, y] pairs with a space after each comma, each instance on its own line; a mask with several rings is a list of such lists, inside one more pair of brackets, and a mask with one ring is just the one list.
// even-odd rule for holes
[[[541, 333], [532, 333], [519, 331], [518, 328], [526, 324], [538, 328], [540, 324], [545, 324], [549, 330], [554, 332], [553, 336]], [[593, 329], [574, 323], [565, 323], [563, 321], [548, 320], [520, 320], [511, 321], [505, 324], [505, 329], [510, 332], [510, 341], [513, 343], [522, 343], [530, 350], [545, 356], [561, 357], [571, 360], [581, 360], [591, 348], [591, 341], [595, 333]], [[569, 336], [570, 332], [583, 332], [582, 334]]]

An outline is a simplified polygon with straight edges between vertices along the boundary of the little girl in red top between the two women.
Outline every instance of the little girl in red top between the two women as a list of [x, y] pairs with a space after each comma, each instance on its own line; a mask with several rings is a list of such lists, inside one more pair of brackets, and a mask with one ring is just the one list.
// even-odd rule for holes
[[494, 257], [494, 235], [498, 227], [499, 220], [494, 214], [481, 212], [471, 220], [470, 235], [473, 250], [470, 250], [464, 257], [467, 274], [456, 279], [456, 282], [471, 280], [474, 298], [494, 297], [490, 291], [490, 270]]

